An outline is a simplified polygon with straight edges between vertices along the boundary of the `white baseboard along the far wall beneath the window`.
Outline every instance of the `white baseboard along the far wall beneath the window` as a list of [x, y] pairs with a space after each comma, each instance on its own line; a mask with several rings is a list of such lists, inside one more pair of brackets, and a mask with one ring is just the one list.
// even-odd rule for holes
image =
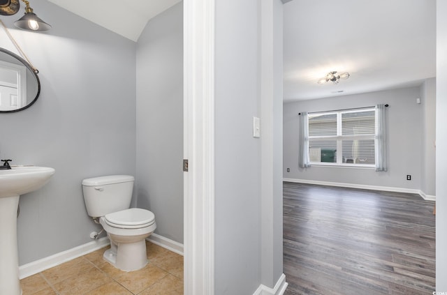
[[367, 186], [365, 184], [354, 184], [354, 183], [339, 183], [330, 181], [313, 181], [307, 179], [283, 179], [283, 181], [295, 182], [295, 183], [307, 183], [316, 184], [318, 186], [338, 186], [342, 188], [360, 188], [362, 190], [382, 190], [384, 192], [406, 192], [409, 194], [418, 194], [420, 197], [427, 201], [436, 201], [436, 196], [425, 195], [422, 190], [416, 190], [413, 188], [393, 188], [390, 186]]

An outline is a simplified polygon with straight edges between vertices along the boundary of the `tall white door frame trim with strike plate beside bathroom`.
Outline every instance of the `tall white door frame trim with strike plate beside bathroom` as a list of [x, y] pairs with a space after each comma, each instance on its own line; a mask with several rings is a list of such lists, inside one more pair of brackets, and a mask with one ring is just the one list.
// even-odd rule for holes
[[184, 294], [214, 294], [214, 0], [184, 0]]

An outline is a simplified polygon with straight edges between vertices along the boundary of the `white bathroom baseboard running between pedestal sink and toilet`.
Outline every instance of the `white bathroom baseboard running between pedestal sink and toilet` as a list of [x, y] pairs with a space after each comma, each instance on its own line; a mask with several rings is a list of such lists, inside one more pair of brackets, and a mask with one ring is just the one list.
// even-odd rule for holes
[[30, 275], [40, 273], [41, 271], [45, 271], [48, 268], [52, 268], [59, 264], [63, 264], [64, 262], [68, 262], [72, 259], [81, 257], [82, 255], [86, 255], [90, 252], [104, 248], [109, 244], [110, 241], [105, 236], [101, 239], [98, 239], [97, 241], [91, 241], [89, 243], [66, 250], [64, 252], [59, 252], [43, 259], [36, 260], [35, 262], [21, 265], [19, 266], [19, 278], [20, 280], [22, 280], [22, 278], [27, 278]]

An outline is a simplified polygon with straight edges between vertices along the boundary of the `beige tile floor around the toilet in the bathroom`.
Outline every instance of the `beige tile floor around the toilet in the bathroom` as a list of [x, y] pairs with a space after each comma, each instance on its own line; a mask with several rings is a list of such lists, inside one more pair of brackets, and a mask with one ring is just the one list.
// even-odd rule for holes
[[23, 295], [183, 294], [183, 257], [146, 242], [149, 263], [124, 272], [103, 259], [107, 248], [54, 266], [20, 281]]

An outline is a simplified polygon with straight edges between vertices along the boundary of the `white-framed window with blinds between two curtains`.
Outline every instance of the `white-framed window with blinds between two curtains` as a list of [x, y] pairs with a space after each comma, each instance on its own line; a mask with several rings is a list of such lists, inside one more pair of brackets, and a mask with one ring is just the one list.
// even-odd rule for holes
[[308, 114], [311, 164], [375, 166], [376, 110]]

